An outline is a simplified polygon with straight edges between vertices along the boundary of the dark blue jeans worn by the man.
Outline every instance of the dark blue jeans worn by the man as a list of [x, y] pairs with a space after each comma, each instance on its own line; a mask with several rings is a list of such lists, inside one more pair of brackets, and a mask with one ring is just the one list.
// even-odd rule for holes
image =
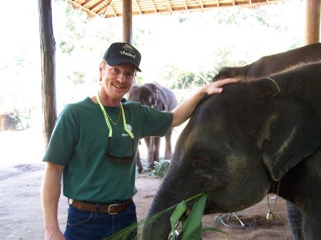
[[[68, 209], [66, 240], [102, 240], [137, 222], [134, 202], [118, 214], [83, 212], [72, 206]], [[136, 236], [136, 232], [133, 234]], [[124, 239], [131, 239], [134, 236]]]

